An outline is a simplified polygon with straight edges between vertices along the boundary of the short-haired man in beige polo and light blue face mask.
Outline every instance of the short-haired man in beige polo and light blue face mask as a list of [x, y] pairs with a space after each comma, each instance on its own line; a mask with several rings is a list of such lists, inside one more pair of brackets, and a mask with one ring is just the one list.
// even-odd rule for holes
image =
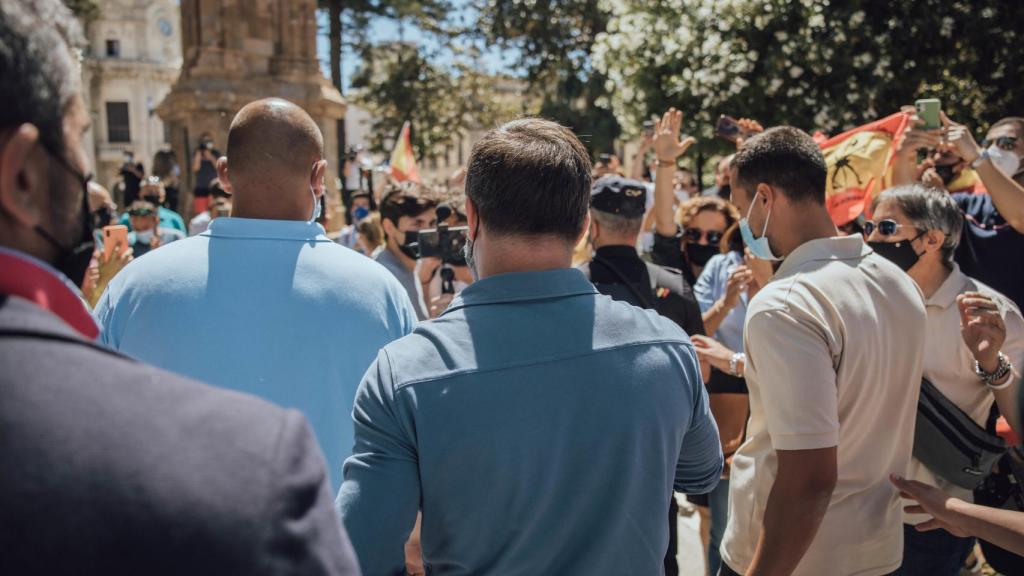
[[902, 558], [890, 474], [910, 461], [925, 302], [860, 237], [836, 238], [826, 168], [772, 128], [732, 161], [755, 256], [780, 259], [746, 314], [748, 440], [732, 461], [721, 574], [880, 576]]

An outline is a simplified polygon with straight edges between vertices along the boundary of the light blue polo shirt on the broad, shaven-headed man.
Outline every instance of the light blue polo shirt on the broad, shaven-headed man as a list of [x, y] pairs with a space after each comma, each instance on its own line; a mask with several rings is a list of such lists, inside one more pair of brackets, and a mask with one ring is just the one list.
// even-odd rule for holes
[[416, 323], [391, 274], [319, 224], [226, 217], [128, 264], [95, 317], [115, 349], [300, 410], [336, 488], [359, 378]]

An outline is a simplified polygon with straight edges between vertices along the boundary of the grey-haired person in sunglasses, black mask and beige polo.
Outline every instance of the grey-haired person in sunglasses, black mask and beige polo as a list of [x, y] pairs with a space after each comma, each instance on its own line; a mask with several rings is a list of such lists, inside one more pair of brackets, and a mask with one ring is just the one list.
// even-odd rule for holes
[[[872, 216], [864, 227], [868, 244], [906, 272], [925, 296], [928, 329], [906, 335], [926, 340], [925, 379], [981, 427], [994, 403], [1019, 434], [1016, 400], [1024, 366], [1024, 318], [1009, 298], [963, 273], [954, 261], [964, 225], [956, 202], [934, 188], [897, 187], [876, 199]], [[918, 446], [922, 442], [928, 446]], [[916, 439], [914, 455], [945, 449], [941, 439], [926, 435]], [[907, 478], [974, 501], [971, 490], [954, 484], [957, 479], [944, 478], [916, 457]], [[903, 566], [897, 574], [955, 576], [974, 539], [925, 531], [928, 525], [914, 528], [927, 520], [904, 515]]]

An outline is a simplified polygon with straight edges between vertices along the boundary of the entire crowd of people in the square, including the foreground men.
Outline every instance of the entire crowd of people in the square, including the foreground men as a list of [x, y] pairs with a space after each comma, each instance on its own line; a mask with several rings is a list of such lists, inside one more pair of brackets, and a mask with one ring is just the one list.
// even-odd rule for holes
[[346, 161], [329, 236], [270, 97], [186, 228], [171, 159], [92, 181], [79, 42], [0, 5], [0, 573], [671, 575], [677, 495], [710, 575], [1024, 573], [1024, 118], [911, 116], [843, 221], [799, 128], [701, 190], [679, 111], [626, 167], [523, 118]]

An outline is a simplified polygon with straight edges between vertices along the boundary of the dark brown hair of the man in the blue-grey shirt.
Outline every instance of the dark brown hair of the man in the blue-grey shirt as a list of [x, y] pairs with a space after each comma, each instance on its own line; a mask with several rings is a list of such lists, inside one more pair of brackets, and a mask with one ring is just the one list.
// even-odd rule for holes
[[469, 156], [466, 196], [495, 234], [575, 241], [590, 210], [590, 187], [587, 149], [571, 130], [550, 120], [504, 124]]

